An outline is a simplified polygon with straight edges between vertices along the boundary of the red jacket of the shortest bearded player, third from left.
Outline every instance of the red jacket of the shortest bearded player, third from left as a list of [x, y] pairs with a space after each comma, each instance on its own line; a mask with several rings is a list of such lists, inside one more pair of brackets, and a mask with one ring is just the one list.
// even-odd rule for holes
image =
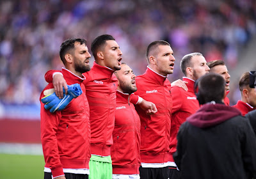
[[115, 128], [111, 158], [113, 174], [139, 174], [140, 167], [140, 116], [128, 94], [116, 91]]

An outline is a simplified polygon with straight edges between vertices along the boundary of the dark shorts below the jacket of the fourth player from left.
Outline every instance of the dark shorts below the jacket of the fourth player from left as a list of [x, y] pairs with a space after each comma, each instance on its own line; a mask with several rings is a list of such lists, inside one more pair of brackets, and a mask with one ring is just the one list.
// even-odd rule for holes
[[150, 168], [140, 166], [140, 179], [167, 179], [168, 167]]

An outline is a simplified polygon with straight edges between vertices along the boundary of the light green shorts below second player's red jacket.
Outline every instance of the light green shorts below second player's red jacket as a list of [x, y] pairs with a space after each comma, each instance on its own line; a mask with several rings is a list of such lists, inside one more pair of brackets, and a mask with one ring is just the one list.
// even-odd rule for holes
[[90, 159], [90, 175], [89, 179], [111, 179], [112, 163], [111, 157], [100, 157], [92, 155]]

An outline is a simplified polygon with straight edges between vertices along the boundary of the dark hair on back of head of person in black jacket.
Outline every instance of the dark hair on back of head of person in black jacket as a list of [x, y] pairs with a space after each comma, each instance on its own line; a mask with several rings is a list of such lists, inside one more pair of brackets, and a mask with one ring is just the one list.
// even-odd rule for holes
[[223, 100], [225, 86], [225, 79], [219, 74], [209, 73], [198, 79], [198, 93], [200, 93], [205, 103]]

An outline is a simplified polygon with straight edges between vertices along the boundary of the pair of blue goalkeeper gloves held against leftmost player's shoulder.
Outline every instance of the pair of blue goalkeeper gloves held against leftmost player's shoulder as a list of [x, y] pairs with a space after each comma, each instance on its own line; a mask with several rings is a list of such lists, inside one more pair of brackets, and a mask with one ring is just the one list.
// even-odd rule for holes
[[62, 111], [73, 98], [79, 97], [83, 91], [81, 86], [76, 83], [68, 85], [67, 95], [65, 95], [65, 89], [63, 89], [63, 93], [64, 97], [62, 99], [57, 97], [55, 92], [42, 98], [41, 101], [45, 104], [44, 108], [47, 110], [50, 109], [51, 113], [54, 113], [55, 111]]

